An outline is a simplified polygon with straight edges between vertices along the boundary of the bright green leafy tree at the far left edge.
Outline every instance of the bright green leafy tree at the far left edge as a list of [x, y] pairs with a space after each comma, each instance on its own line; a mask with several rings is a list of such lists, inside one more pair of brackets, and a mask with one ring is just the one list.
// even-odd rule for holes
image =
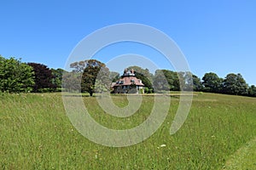
[[0, 55], [0, 91], [19, 93], [32, 91], [34, 84], [32, 67], [20, 59], [4, 59]]

